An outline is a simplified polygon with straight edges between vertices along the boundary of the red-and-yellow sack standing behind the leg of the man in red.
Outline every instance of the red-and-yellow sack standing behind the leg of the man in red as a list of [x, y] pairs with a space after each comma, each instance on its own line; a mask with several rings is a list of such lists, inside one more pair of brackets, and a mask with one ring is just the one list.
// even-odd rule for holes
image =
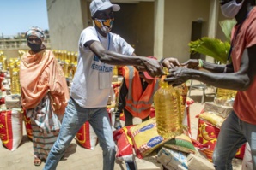
[[[228, 116], [228, 115], [227, 115]], [[222, 116], [214, 112], [203, 112], [198, 115], [198, 137], [197, 140], [204, 147], [199, 147], [206, 155], [209, 161], [212, 161], [212, 154], [216, 145], [217, 137], [220, 132], [222, 122], [225, 120]], [[245, 145], [237, 150], [236, 158], [242, 159], [245, 151]]]

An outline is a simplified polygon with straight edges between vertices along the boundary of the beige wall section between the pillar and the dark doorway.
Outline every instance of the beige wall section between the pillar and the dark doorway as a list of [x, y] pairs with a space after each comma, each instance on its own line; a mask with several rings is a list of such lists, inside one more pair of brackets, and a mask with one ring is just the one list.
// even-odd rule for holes
[[203, 34], [207, 34], [210, 0], [165, 1], [163, 56], [177, 57], [180, 62], [190, 58], [192, 21], [202, 18]]

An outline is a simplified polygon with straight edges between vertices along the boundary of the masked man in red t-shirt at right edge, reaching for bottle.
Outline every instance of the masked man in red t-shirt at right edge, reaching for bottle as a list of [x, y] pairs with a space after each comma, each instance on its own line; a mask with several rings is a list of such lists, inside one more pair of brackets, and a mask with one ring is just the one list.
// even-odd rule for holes
[[[221, 0], [222, 14], [237, 21], [231, 35], [229, 57], [232, 63], [216, 65], [202, 60], [189, 60], [173, 67], [165, 79], [180, 84], [196, 79], [208, 85], [238, 91], [234, 111], [223, 122], [213, 154], [217, 170], [232, 169], [237, 149], [248, 142], [256, 169], [256, 7], [255, 0]], [[168, 62], [168, 59], [163, 60]], [[170, 66], [169, 66], [170, 67]], [[198, 71], [204, 68], [209, 72]], [[193, 68], [193, 69], [189, 69]]]

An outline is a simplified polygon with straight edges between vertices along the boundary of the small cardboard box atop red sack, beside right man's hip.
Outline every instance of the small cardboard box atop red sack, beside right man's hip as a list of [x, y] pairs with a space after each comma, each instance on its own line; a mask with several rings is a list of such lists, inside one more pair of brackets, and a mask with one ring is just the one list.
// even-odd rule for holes
[[224, 106], [213, 102], [204, 103], [204, 112], [213, 112], [217, 115], [222, 116], [223, 118], [227, 118], [232, 110], [232, 106]]

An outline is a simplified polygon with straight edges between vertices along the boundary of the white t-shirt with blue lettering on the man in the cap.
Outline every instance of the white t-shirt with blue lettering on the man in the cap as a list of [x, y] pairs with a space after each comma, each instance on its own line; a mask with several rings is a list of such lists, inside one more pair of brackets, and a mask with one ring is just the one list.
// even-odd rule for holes
[[84, 47], [90, 40], [101, 42], [106, 50], [131, 56], [134, 49], [125, 39], [109, 32], [107, 38], [96, 32], [93, 26], [84, 29], [79, 39], [77, 69], [70, 90], [70, 97], [82, 108], [102, 108], [107, 106], [111, 91], [113, 65], [101, 62], [99, 57]]

